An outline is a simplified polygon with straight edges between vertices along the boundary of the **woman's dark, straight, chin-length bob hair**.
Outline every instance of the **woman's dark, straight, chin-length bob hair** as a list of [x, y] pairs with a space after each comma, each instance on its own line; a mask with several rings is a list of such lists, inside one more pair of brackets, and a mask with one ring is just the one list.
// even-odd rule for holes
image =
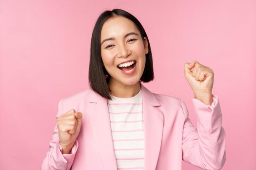
[[104, 11], [98, 17], [92, 33], [90, 64], [89, 64], [89, 83], [93, 91], [97, 92], [100, 96], [110, 100], [111, 100], [111, 96], [110, 96], [111, 90], [109, 89], [109, 86], [108, 86], [110, 75], [107, 72], [106, 68], [104, 67], [103, 61], [101, 59], [100, 35], [101, 35], [101, 29], [104, 22], [107, 19], [116, 17], [116, 16], [126, 17], [131, 21], [133, 21], [140, 32], [142, 40], [143, 40], [143, 37], [147, 38], [148, 53], [146, 54], [145, 68], [139, 81], [146, 83], [154, 79], [152, 52], [151, 52], [148, 36], [144, 28], [142, 27], [141, 23], [138, 21], [136, 17], [134, 17], [130, 13], [121, 9]]

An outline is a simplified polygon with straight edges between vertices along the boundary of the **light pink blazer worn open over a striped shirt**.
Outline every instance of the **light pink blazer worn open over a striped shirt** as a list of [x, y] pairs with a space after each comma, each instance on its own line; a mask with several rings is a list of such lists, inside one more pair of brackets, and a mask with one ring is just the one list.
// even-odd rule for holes
[[[197, 128], [178, 98], [142, 88], [145, 170], [182, 170], [182, 160], [206, 170], [220, 170], [226, 160], [226, 134], [217, 95], [206, 105], [192, 97]], [[57, 125], [41, 170], [117, 170], [107, 100], [92, 89], [61, 99], [56, 117], [75, 109], [83, 113], [70, 154], [59, 149]]]

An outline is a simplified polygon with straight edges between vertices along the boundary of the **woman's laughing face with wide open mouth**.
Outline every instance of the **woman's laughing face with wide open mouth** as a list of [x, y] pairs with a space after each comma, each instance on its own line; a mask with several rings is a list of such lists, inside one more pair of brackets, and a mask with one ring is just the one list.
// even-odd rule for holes
[[102, 26], [100, 43], [110, 82], [115, 85], [138, 83], [145, 68], [148, 43], [146, 37], [141, 38], [136, 25], [125, 17], [109, 18]]

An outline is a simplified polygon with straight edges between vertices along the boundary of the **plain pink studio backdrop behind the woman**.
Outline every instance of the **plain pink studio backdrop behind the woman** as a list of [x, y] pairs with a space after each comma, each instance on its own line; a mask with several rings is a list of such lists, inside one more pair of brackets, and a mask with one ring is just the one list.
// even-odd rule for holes
[[137, 17], [149, 36], [155, 81], [144, 85], [183, 99], [194, 125], [183, 63], [214, 70], [223, 170], [256, 170], [256, 0], [0, 0], [0, 169], [39, 169], [59, 100], [89, 87], [92, 30], [113, 8]]

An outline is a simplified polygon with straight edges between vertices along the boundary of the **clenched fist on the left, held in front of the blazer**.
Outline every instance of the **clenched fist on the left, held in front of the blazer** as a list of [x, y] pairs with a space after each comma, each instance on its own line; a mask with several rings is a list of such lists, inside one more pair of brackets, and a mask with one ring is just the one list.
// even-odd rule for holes
[[69, 153], [76, 142], [82, 124], [82, 113], [71, 109], [57, 118], [62, 153]]

